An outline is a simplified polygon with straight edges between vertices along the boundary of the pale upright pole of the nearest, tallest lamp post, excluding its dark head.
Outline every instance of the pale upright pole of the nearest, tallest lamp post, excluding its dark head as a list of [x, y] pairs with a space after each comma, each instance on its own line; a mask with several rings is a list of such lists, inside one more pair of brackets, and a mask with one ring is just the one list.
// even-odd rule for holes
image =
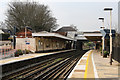
[[112, 11], [110, 10], [110, 65], [112, 65], [112, 33], [111, 33], [111, 26], [112, 26]]

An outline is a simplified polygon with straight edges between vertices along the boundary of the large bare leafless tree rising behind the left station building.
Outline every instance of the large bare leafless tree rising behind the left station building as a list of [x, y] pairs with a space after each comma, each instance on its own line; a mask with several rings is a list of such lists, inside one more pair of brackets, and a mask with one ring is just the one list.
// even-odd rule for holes
[[6, 23], [9, 29], [21, 30], [29, 26], [33, 31], [50, 31], [58, 25], [48, 6], [36, 2], [12, 2], [9, 4]]

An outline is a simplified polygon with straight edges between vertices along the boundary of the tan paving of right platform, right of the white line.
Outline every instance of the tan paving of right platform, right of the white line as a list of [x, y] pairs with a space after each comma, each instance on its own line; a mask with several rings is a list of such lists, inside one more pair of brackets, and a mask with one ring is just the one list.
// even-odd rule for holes
[[119, 64], [117, 61], [113, 60], [113, 64], [110, 65], [110, 58], [103, 58], [100, 55], [100, 52], [94, 50], [93, 51], [93, 58], [95, 62], [95, 66], [97, 69], [98, 77], [99, 78], [119, 78]]

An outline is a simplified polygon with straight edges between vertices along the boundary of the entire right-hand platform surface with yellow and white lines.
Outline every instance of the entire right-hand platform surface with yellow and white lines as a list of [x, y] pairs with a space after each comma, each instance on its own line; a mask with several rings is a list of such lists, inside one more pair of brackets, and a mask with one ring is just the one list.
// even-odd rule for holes
[[97, 50], [86, 52], [78, 61], [67, 80], [120, 80], [120, 63], [103, 58]]

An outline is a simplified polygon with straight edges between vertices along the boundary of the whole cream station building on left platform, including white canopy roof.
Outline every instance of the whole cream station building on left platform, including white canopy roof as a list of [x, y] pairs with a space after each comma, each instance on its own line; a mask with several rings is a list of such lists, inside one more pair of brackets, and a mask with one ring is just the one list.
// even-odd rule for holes
[[[22, 34], [21, 34], [22, 33]], [[17, 33], [16, 49], [30, 50], [32, 52], [72, 49], [72, 38], [46, 31], [32, 33], [31, 31]]]

